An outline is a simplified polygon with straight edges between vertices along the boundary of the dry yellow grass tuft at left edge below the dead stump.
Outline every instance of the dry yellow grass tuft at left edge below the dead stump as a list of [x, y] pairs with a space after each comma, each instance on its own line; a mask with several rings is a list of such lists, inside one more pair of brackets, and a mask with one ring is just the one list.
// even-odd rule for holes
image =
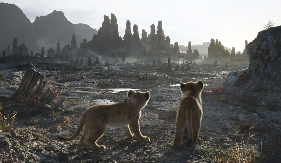
[[14, 111], [13, 114], [8, 114], [7, 116], [2, 115], [2, 106], [0, 103], [0, 130], [4, 132], [10, 132], [14, 124], [17, 113], [18, 112]]

